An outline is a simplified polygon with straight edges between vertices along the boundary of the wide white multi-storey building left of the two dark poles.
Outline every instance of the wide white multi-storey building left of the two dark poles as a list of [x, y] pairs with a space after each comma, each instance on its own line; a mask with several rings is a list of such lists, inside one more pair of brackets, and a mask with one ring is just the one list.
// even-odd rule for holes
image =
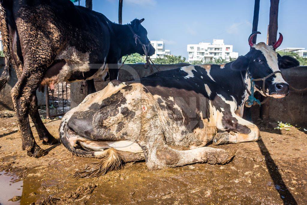
[[226, 61], [238, 58], [238, 53], [232, 51], [232, 45], [225, 45], [223, 39], [213, 39], [213, 43], [188, 44], [188, 62], [202, 61], [203, 63], [223, 58]]

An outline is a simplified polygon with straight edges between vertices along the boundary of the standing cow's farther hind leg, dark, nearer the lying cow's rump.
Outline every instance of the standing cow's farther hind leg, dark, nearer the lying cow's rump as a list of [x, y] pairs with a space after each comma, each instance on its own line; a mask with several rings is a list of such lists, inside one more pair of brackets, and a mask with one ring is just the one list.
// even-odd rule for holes
[[43, 144], [57, 144], [58, 140], [49, 133], [44, 123], [41, 121], [41, 116], [38, 112], [37, 97], [35, 91], [32, 93], [29, 109], [29, 114], [37, 130], [39, 139], [43, 140]]

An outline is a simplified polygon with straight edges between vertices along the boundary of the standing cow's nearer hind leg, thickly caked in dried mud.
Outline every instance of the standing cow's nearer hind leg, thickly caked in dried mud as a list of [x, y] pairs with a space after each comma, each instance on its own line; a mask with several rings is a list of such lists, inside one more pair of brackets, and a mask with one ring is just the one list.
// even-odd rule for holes
[[46, 152], [35, 142], [29, 123], [29, 106], [32, 93], [37, 89], [42, 80], [42, 72], [29, 72], [24, 70], [16, 85], [11, 90], [12, 100], [18, 118], [18, 124], [22, 137], [22, 149], [29, 156], [41, 157]]

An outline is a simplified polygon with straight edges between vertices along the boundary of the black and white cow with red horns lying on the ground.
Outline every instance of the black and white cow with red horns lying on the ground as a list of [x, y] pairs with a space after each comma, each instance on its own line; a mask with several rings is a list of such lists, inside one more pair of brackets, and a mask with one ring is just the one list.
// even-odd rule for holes
[[298, 62], [274, 51], [281, 39], [274, 46], [254, 45], [254, 35], [249, 38], [251, 50], [230, 63], [188, 65], [126, 83], [115, 80], [87, 96], [60, 126], [60, 139], [69, 151], [103, 158], [79, 176], [105, 173], [121, 160], [145, 159], [150, 170], [224, 164], [233, 153], [204, 147], [207, 143], [258, 140], [257, 126], [242, 118], [247, 89], [251, 90], [249, 76], [263, 78], [275, 72], [266, 78], [265, 88], [262, 81], [255, 81], [254, 88], [262, 95], [281, 98], [289, 88], [276, 72], [278, 65], [290, 67]]

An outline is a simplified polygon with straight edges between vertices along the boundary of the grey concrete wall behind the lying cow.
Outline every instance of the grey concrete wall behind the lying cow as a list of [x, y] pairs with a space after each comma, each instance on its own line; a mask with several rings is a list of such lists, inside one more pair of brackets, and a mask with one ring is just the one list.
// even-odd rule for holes
[[[186, 64], [174, 65], [156, 65], [160, 70], [175, 69]], [[154, 69], [154, 72], [156, 70]], [[119, 71], [120, 81], [129, 81], [150, 75], [150, 69], [144, 69], [142, 64], [125, 64]], [[293, 85], [293, 87], [301, 89], [307, 88], [307, 67], [300, 66], [291, 69], [283, 69], [282, 74], [286, 81]], [[97, 80], [97, 79], [96, 79]], [[98, 90], [103, 89], [107, 82], [95, 82], [95, 87]], [[80, 93], [80, 82], [71, 84], [71, 105], [76, 107], [85, 98], [84, 93]], [[261, 106], [255, 105], [251, 108], [252, 120], [255, 121], [260, 117], [264, 119], [280, 120], [292, 124], [307, 125], [307, 92], [290, 94], [282, 99], [270, 98], [265, 104]]]

